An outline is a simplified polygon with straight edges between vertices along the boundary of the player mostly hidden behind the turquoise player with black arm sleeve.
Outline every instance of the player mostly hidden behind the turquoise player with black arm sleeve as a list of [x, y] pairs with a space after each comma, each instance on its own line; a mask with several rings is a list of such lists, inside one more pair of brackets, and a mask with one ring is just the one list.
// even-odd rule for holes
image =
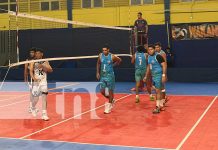
[[[155, 43], [155, 51], [160, 54], [163, 58], [164, 58], [164, 61], [167, 62], [167, 56], [166, 56], [166, 53], [162, 50], [162, 47], [161, 47], [161, 43], [160, 42], [157, 42]], [[168, 98], [166, 96], [166, 89], [165, 89], [165, 83], [163, 84], [163, 89], [162, 89], [162, 93], [163, 93], [163, 100], [164, 100], [164, 104], [167, 103], [168, 101]]]

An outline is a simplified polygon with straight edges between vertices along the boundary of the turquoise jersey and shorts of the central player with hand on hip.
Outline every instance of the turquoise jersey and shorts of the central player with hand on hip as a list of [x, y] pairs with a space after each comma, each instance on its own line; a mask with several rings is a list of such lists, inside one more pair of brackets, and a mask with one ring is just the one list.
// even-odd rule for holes
[[115, 88], [115, 76], [113, 69], [112, 54], [109, 53], [105, 56], [101, 53], [101, 72], [100, 72], [100, 89], [114, 90]]

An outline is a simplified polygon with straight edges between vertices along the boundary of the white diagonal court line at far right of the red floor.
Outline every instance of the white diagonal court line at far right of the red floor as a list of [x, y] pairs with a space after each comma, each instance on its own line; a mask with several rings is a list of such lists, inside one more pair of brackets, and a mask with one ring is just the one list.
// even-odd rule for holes
[[211, 108], [213, 103], [216, 101], [217, 97], [218, 97], [218, 95], [211, 101], [211, 103], [208, 105], [207, 109], [203, 112], [203, 114], [200, 116], [200, 118], [197, 120], [197, 122], [194, 124], [194, 126], [191, 128], [191, 130], [186, 134], [186, 136], [179, 143], [179, 145], [177, 146], [177, 148], [175, 150], [179, 150], [183, 146], [183, 144], [187, 141], [189, 136], [192, 134], [192, 132], [195, 130], [195, 128], [198, 126], [198, 124], [201, 122], [201, 120], [204, 118], [204, 116], [206, 115], [208, 110]]

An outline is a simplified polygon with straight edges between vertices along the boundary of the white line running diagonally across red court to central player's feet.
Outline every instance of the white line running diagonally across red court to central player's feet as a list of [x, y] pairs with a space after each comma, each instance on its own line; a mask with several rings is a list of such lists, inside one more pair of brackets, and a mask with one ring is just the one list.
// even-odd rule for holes
[[[116, 101], [119, 101], [119, 100], [121, 100], [121, 99], [124, 99], [124, 98], [126, 98], [126, 97], [129, 97], [129, 96], [131, 96], [131, 95], [132, 95], [132, 94], [128, 94], [128, 95], [126, 95], [126, 96], [123, 96], [123, 97], [121, 97], [121, 98], [118, 98]], [[41, 129], [41, 130], [38, 130], [38, 131], [36, 131], [36, 132], [33, 132], [33, 133], [28, 134], [28, 135], [22, 136], [22, 137], [20, 137], [20, 139], [25, 139], [25, 138], [27, 138], [27, 137], [30, 137], [30, 136], [34, 135], [34, 134], [40, 133], [40, 132], [45, 131], [45, 130], [47, 130], [47, 129], [49, 129], [49, 128], [52, 128], [52, 127], [54, 127], [54, 126], [57, 126], [57, 125], [62, 124], [62, 123], [64, 123], [64, 122], [67, 122], [67, 121], [69, 121], [69, 120], [72, 120], [72, 119], [74, 119], [74, 118], [76, 118], [76, 117], [79, 117], [79, 116], [82, 116], [82, 115], [87, 114], [87, 113], [89, 113], [89, 112], [92, 112], [92, 111], [94, 111], [94, 110], [97, 110], [97, 109], [103, 107], [104, 105], [105, 105], [105, 104], [100, 105], [100, 106], [98, 106], [98, 107], [95, 107], [95, 108], [93, 108], [93, 109], [87, 110], [87, 111], [85, 111], [85, 112], [83, 112], [83, 113], [81, 113], [81, 114], [75, 115], [75, 116], [70, 117], [70, 118], [68, 118], [68, 119], [65, 119], [65, 120], [63, 120], [63, 121], [57, 122], [57, 123], [55, 123], [55, 124], [53, 124], [53, 125], [50, 125], [50, 126], [48, 126], [48, 127], [46, 127], [46, 128], [43, 128], [43, 129]]]

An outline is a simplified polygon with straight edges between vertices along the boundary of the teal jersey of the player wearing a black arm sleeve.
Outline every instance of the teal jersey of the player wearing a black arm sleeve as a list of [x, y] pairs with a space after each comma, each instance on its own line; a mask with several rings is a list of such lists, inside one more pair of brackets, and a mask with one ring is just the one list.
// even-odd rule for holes
[[162, 66], [161, 64], [158, 62], [157, 60], [157, 55], [159, 55], [158, 53], [155, 53], [153, 56], [148, 56], [148, 64], [150, 65], [150, 69], [151, 69], [151, 73], [157, 74], [157, 73], [161, 73], [163, 72]]

